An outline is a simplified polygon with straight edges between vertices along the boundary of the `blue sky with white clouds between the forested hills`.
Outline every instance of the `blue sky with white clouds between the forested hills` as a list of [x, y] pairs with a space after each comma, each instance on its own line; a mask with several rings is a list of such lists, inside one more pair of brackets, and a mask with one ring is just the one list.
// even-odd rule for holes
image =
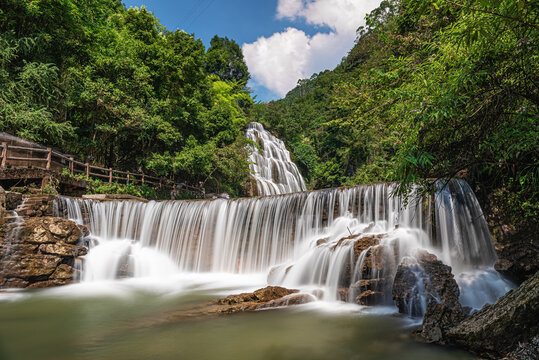
[[145, 6], [169, 30], [235, 40], [256, 100], [283, 98], [298, 80], [333, 69], [381, 0], [124, 0]]

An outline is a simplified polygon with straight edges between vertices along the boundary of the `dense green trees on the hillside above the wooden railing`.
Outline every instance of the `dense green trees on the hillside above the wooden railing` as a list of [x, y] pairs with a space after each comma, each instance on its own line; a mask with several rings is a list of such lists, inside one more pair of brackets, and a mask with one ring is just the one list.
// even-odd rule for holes
[[83, 160], [241, 194], [248, 79], [233, 40], [120, 0], [0, 1], [0, 130]]

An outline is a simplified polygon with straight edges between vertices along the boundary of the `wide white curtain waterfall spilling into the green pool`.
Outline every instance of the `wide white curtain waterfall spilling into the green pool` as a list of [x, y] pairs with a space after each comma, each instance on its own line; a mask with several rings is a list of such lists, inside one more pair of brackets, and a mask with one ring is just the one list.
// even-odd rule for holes
[[[395, 184], [235, 200], [98, 202], [60, 198], [60, 216], [88, 224], [92, 248], [83, 282], [118, 277], [163, 278], [181, 273], [269, 274], [274, 285], [342, 299], [339, 288], [366, 275], [369, 252], [384, 266], [372, 279], [394, 276], [396, 265], [427, 249], [452, 266], [464, 305], [493, 302], [510, 285], [492, 270], [492, 240], [472, 190], [454, 180], [432, 196], [406, 204]], [[433, 223], [434, 220], [434, 223]], [[379, 244], [357, 260], [358, 239]], [[353, 287], [352, 287], [353, 288]], [[357, 291], [351, 288], [348, 300]]]

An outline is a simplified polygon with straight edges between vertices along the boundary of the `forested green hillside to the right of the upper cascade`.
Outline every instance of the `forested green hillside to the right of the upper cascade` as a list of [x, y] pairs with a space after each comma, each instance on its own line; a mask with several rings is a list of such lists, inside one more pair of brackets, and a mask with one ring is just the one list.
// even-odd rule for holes
[[538, 15], [525, 0], [384, 0], [335, 70], [257, 117], [312, 188], [460, 174], [536, 225]]

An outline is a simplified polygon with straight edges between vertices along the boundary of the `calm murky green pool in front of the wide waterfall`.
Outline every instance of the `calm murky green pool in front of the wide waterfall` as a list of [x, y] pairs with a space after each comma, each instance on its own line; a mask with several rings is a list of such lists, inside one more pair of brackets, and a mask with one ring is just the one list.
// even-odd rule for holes
[[0, 302], [0, 359], [471, 359], [393, 314], [282, 309], [171, 320], [204, 294]]

